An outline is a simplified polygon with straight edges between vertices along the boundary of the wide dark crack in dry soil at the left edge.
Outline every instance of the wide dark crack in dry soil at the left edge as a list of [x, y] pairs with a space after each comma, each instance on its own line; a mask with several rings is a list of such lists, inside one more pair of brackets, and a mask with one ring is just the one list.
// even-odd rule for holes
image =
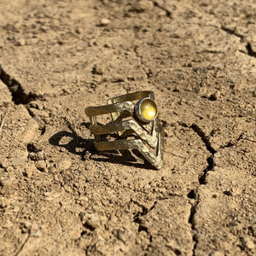
[[15, 102], [16, 105], [26, 105], [27, 103], [32, 102], [38, 98], [38, 96], [32, 92], [26, 94], [20, 82], [14, 79], [9, 73], [5, 72], [1, 65], [0, 80], [2, 80], [3, 84], [8, 87], [10, 93], [12, 94], [12, 101]]

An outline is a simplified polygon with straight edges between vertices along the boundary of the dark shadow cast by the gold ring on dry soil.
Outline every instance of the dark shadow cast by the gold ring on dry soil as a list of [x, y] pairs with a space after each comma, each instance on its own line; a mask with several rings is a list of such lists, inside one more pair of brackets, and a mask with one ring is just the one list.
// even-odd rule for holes
[[[81, 123], [87, 129], [89, 129], [90, 123]], [[140, 154], [137, 150], [112, 150], [112, 151], [96, 151], [94, 148], [94, 139], [84, 139], [83, 137], [79, 137], [77, 132], [69, 126], [71, 131], [59, 131], [55, 133], [52, 137], [49, 138], [49, 143], [56, 147], [66, 148], [68, 152], [72, 154], [77, 154], [81, 156], [81, 160], [86, 160], [85, 155], [86, 152], [90, 153], [89, 159], [95, 160], [98, 162], [109, 162], [113, 164], [121, 164], [123, 166], [135, 166], [137, 168], [144, 169], [154, 169], [148, 161]], [[73, 138], [67, 144], [61, 144], [61, 139], [63, 137], [71, 137]], [[78, 151], [78, 148], [84, 148]], [[143, 163], [138, 163], [137, 158], [132, 155], [136, 155], [138, 158], [143, 160]]]

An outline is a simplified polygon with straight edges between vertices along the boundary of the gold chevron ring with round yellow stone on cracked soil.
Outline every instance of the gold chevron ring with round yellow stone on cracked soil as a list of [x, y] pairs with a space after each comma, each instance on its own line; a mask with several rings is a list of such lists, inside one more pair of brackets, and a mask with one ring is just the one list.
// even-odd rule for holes
[[[108, 105], [85, 108], [97, 151], [137, 149], [156, 169], [163, 166], [164, 129], [151, 90], [108, 99]], [[99, 124], [97, 116], [110, 114], [112, 121]], [[116, 134], [114, 140], [108, 135]], [[102, 141], [103, 136], [105, 140]], [[107, 139], [107, 141], [106, 141]]]

